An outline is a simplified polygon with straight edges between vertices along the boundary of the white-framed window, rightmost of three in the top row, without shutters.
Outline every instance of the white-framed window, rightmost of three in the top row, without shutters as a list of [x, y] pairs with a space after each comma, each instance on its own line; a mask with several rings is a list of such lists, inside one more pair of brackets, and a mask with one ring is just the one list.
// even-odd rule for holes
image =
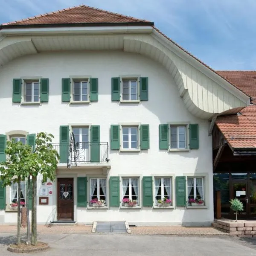
[[138, 79], [122, 79], [122, 100], [138, 100]]

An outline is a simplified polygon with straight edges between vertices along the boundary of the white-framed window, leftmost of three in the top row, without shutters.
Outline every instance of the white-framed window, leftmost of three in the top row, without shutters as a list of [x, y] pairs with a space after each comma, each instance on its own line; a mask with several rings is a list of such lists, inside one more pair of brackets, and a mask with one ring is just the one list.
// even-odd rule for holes
[[39, 80], [24, 81], [24, 101], [39, 102], [40, 86]]

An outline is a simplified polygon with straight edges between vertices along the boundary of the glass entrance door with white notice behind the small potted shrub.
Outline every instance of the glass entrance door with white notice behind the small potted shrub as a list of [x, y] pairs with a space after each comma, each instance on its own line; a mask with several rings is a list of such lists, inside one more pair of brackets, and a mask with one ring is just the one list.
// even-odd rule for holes
[[249, 217], [248, 212], [248, 189], [247, 189], [247, 182], [233, 182], [232, 183], [232, 193], [233, 198], [237, 198], [243, 204], [244, 210], [242, 212], [238, 212], [239, 218], [247, 218]]

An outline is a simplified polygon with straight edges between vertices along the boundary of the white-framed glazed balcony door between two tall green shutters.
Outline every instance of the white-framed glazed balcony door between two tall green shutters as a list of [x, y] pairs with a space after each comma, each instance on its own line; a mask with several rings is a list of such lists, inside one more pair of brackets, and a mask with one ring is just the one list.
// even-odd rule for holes
[[73, 127], [72, 128], [75, 142], [78, 148], [78, 161], [89, 162], [89, 128], [88, 127]]

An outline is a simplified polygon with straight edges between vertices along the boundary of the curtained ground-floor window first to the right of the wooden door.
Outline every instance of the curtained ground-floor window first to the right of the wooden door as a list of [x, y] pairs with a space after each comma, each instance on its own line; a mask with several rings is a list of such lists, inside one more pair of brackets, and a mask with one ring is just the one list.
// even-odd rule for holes
[[[90, 201], [93, 199], [104, 200], [107, 205], [106, 179], [91, 178], [90, 179]], [[90, 203], [92, 205], [92, 203]]]

